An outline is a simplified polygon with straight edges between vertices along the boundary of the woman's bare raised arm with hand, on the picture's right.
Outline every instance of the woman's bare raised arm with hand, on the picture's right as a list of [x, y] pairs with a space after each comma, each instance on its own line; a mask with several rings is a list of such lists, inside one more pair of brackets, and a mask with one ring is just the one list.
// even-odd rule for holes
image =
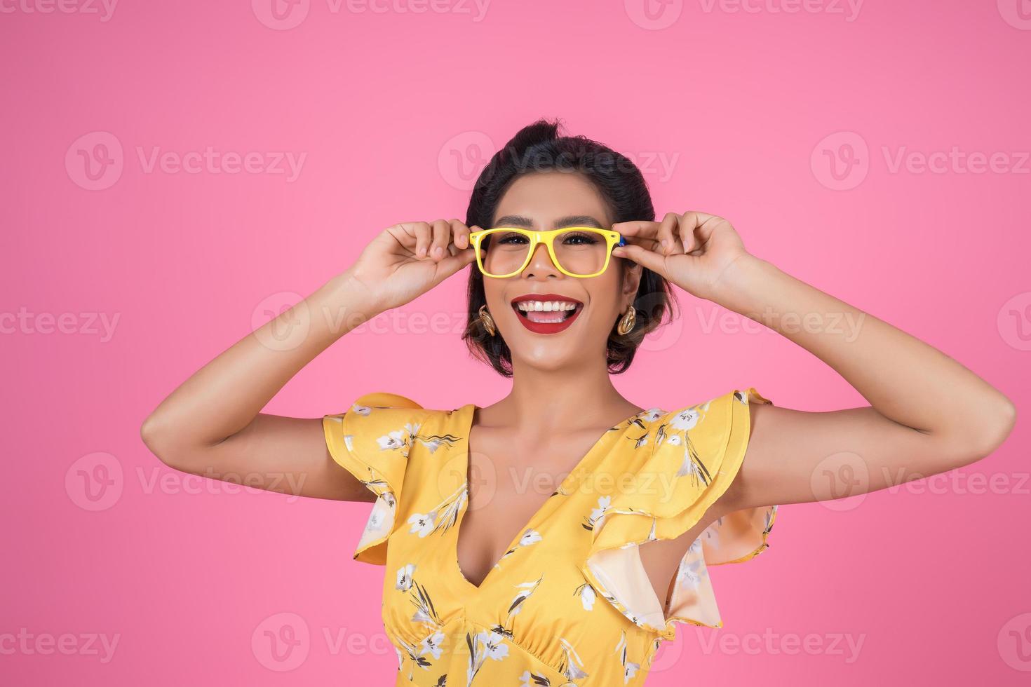
[[635, 238], [613, 254], [773, 329], [870, 403], [829, 412], [753, 403], [744, 462], [718, 514], [928, 477], [989, 455], [1012, 430], [1016, 409], [998, 389], [936, 348], [750, 254], [726, 219], [689, 212], [614, 229]]

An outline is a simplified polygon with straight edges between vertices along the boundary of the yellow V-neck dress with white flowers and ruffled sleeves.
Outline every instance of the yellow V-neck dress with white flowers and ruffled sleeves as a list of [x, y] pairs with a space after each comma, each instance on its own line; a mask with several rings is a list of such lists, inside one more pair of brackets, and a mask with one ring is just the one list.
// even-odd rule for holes
[[428, 410], [393, 393], [323, 418], [333, 458], [377, 499], [355, 558], [386, 565], [395, 685], [644, 684], [676, 623], [722, 627], [706, 565], [762, 552], [776, 506], [713, 522], [680, 561], [668, 615], [638, 547], [691, 529], [737, 474], [754, 387], [607, 430], [477, 587], [459, 569], [476, 406]]

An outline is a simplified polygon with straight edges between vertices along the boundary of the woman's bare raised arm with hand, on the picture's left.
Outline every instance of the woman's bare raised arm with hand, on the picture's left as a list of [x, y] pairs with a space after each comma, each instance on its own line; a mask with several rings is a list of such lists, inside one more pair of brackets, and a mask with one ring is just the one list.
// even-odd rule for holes
[[329, 454], [321, 417], [261, 410], [352, 329], [471, 263], [469, 231], [457, 219], [385, 230], [342, 274], [182, 382], [143, 422], [143, 442], [182, 472], [303, 496], [374, 501]]

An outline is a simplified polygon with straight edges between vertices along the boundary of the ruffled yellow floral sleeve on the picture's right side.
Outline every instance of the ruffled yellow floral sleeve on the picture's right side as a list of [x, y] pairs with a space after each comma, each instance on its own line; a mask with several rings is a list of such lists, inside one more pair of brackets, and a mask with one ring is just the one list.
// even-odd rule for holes
[[648, 457], [595, 526], [584, 577], [627, 618], [662, 639], [675, 637], [677, 622], [722, 627], [706, 565], [742, 562], [767, 547], [776, 506], [714, 521], [680, 560], [668, 616], [638, 552], [642, 544], [690, 530], [727, 490], [744, 460], [755, 403], [771, 404], [750, 387], [660, 415], [646, 436]]

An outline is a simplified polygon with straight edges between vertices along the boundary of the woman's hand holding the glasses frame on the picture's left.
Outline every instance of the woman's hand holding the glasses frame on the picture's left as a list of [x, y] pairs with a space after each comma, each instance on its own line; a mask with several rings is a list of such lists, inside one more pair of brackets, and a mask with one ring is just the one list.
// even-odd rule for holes
[[394, 225], [372, 239], [344, 274], [376, 310], [400, 307], [475, 261], [469, 233], [478, 229], [458, 219]]

